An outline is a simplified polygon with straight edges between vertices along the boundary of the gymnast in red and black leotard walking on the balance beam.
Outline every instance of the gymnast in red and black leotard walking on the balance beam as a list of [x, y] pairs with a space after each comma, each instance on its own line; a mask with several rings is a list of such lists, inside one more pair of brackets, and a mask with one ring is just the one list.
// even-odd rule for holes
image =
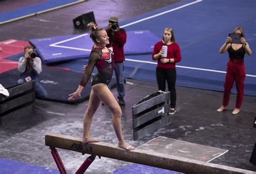
[[93, 115], [99, 107], [100, 101], [102, 101], [113, 113], [112, 124], [118, 138], [118, 147], [125, 150], [134, 150], [134, 148], [124, 140], [121, 127], [122, 110], [109, 88], [107, 88], [112, 78], [114, 68], [111, 52], [106, 47], [106, 45], [109, 44], [109, 37], [107, 37], [106, 31], [98, 27], [97, 24], [89, 23], [87, 27], [91, 29], [90, 37], [95, 45], [92, 47], [88, 65], [84, 68], [85, 73], [82, 76], [80, 85], [76, 92], [69, 95], [68, 99], [75, 100], [80, 98], [80, 94], [87, 81], [90, 79], [93, 68], [96, 66], [98, 72], [92, 77], [89, 106], [84, 114], [82, 143], [99, 142], [96, 138], [90, 137], [90, 127]]

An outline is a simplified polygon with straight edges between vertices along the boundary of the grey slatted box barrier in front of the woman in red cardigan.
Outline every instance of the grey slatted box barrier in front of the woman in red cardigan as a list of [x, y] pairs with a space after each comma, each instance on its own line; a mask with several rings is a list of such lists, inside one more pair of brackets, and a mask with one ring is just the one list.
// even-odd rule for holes
[[145, 96], [132, 107], [133, 139], [138, 140], [171, 123], [170, 92], [158, 91]]

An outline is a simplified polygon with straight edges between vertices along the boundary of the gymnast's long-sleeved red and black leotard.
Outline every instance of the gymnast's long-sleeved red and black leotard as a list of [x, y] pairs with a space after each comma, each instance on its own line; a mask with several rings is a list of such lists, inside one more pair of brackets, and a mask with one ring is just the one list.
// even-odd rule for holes
[[112, 52], [102, 52], [102, 49], [103, 48], [92, 48], [86, 71], [80, 81], [81, 86], [86, 85], [95, 66], [98, 72], [93, 76], [91, 85], [93, 86], [98, 83], [109, 85], [113, 74], [114, 61], [112, 59]]

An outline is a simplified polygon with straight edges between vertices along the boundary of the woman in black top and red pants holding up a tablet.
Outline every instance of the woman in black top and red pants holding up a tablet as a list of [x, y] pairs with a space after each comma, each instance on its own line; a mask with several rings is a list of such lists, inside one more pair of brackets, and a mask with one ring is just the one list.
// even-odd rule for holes
[[[239, 38], [239, 39], [238, 39]], [[229, 60], [227, 63], [226, 79], [224, 84], [223, 104], [217, 112], [223, 112], [227, 109], [230, 100], [230, 93], [235, 81], [237, 86], [237, 100], [235, 108], [232, 112], [233, 115], [240, 112], [242, 99], [244, 98], [244, 82], [245, 82], [245, 53], [252, 54], [251, 48], [245, 40], [245, 33], [241, 27], [235, 27], [233, 33], [228, 34], [225, 43], [220, 47], [219, 53], [228, 52]]]

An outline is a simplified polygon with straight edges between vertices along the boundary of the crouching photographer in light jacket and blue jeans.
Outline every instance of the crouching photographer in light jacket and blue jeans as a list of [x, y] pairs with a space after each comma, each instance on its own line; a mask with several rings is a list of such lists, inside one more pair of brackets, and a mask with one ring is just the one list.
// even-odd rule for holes
[[42, 72], [41, 59], [36, 57], [32, 46], [24, 47], [24, 57], [19, 58], [18, 71], [21, 72], [18, 84], [35, 80], [36, 96], [39, 98], [47, 96], [46, 90], [39, 83], [39, 74]]

